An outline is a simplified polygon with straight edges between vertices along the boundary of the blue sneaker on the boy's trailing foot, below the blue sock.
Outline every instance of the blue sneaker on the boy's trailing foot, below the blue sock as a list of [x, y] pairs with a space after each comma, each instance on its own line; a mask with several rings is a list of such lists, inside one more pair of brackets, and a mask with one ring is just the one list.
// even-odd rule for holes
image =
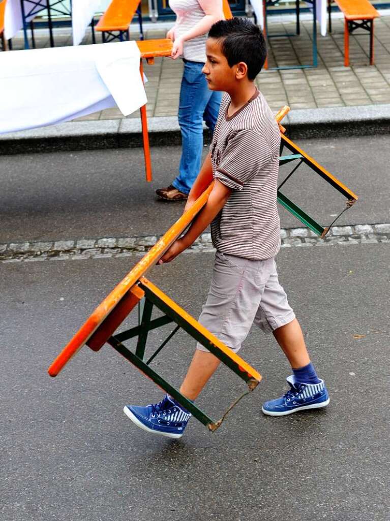
[[284, 416], [305, 409], [318, 409], [326, 407], [329, 403], [329, 394], [324, 381], [320, 383], [295, 383], [294, 376], [288, 376], [287, 382], [290, 390], [276, 400], [266, 402], [261, 411], [270, 416]]

